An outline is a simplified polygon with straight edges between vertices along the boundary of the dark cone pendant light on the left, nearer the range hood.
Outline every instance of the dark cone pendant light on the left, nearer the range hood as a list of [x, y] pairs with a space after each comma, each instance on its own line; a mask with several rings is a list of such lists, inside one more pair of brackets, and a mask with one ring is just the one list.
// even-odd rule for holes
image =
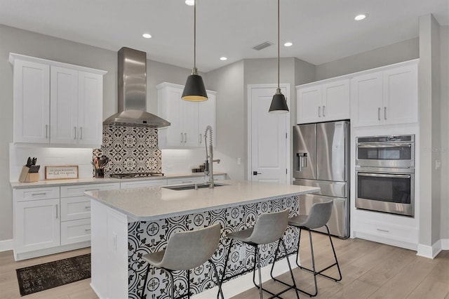
[[208, 99], [206, 88], [204, 87], [203, 78], [198, 74], [196, 69], [196, 0], [194, 1], [194, 68], [192, 74], [187, 77], [184, 91], [182, 91], [182, 100], [191, 102], [201, 102]]

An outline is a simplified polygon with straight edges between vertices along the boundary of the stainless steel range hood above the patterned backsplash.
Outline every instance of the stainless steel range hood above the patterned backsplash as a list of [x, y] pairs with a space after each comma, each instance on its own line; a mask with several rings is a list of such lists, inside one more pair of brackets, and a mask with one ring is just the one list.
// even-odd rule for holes
[[147, 53], [123, 47], [119, 50], [119, 112], [103, 124], [114, 126], [170, 126], [147, 112]]

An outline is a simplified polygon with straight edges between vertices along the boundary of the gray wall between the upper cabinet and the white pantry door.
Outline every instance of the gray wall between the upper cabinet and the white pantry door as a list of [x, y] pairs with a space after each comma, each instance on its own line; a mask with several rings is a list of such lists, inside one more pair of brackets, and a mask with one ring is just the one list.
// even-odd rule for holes
[[[217, 138], [215, 154], [227, 170], [229, 178], [243, 180], [246, 166], [245, 98], [243, 60], [208, 72], [206, 88], [217, 93]], [[237, 159], [241, 158], [241, 164]]]

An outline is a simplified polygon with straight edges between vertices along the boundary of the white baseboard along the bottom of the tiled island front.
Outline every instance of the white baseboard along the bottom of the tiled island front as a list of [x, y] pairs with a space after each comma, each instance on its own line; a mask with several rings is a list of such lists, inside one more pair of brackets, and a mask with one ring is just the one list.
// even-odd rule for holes
[[[292, 269], [295, 269], [297, 267], [295, 263], [296, 255], [290, 255], [288, 257], [288, 260], [290, 260], [290, 265]], [[269, 272], [272, 270], [272, 264], [267, 265], [262, 268], [261, 274], [262, 274], [262, 282], [269, 281], [269, 279], [272, 279], [270, 277]], [[273, 275], [274, 277], [279, 276], [283, 273], [288, 272], [288, 265], [287, 260], [283, 258], [282, 260], [279, 260], [276, 262], [276, 265], [274, 266]], [[256, 274], [256, 282], [258, 282], [257, 274]], [[287, 283], [290, 283], [291, 281], [286, 281]], [[236, 279], [229, 280], [225, 282], [225, 284], [222, 284], [222, 291], [225, 295], [225, 298], [231, 298], [235, 295], [239, 295], [239, 293], [242, 293], [244, 291], [249, 290], [250, 288], [253, 288], [253, 272], [248, 272], [241, 277], [237, 277]], [[210, 298], [217, 298], [217, 291], [218, 286], [215, 286], [214, 288], [209, 288], [207, 291], [203, 291], [202, 293], [196, 294], [192, 296], [194, 299], [210, 299]]]

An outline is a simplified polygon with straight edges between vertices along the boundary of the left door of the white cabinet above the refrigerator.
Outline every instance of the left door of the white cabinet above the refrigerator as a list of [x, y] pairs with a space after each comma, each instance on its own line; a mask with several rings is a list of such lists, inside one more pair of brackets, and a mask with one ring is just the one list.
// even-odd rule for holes
[[297, 124], [323, 121], [321, 84], [297, 88]]

